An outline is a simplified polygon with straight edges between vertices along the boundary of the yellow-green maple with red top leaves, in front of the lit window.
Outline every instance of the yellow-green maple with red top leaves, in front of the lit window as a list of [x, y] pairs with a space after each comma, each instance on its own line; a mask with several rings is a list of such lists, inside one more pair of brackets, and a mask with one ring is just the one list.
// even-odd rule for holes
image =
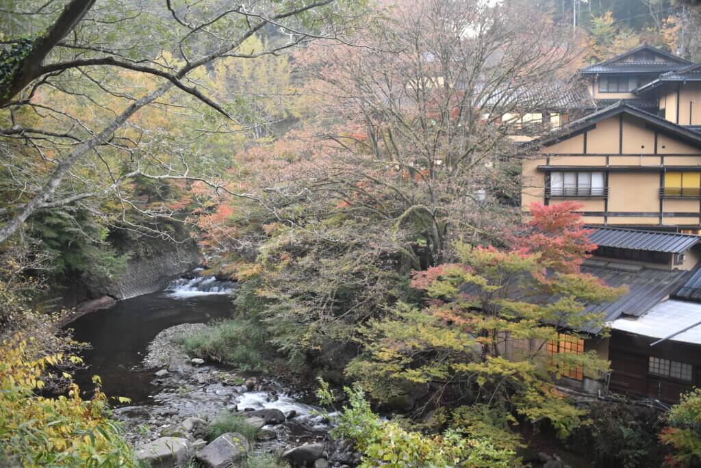
[[[562, 340], [561, 333], [585, 338], [576, 330], [602, 325], [587, 305], [610, 301], [620, 290], [578, 273], [591, 247], [580, 219], [567, 209], [534, 207], [528, 235], [513, 249], [458, 242], [460, 263], [416, 273], [414, 286], [426, 291], [429, 305], [400, 303], [362, 326], [365, 353], [348, 365], [348, 376], [381, 401], [419, 385], [433, 390], [439, 404], [459, 398], [477, 405], [489, 418], [479, 424], [458, 418], [470, 434], [504, 432], [517, 415], [548, 420], [560, 436], [570, 434], [585, 411], [557, 392], [553, 378], [569, 369], [598, 378], [608, 363], [593, 351], [551, 355], [547, 343]], [[501, 423], [487, 428], [489, 420]]]

